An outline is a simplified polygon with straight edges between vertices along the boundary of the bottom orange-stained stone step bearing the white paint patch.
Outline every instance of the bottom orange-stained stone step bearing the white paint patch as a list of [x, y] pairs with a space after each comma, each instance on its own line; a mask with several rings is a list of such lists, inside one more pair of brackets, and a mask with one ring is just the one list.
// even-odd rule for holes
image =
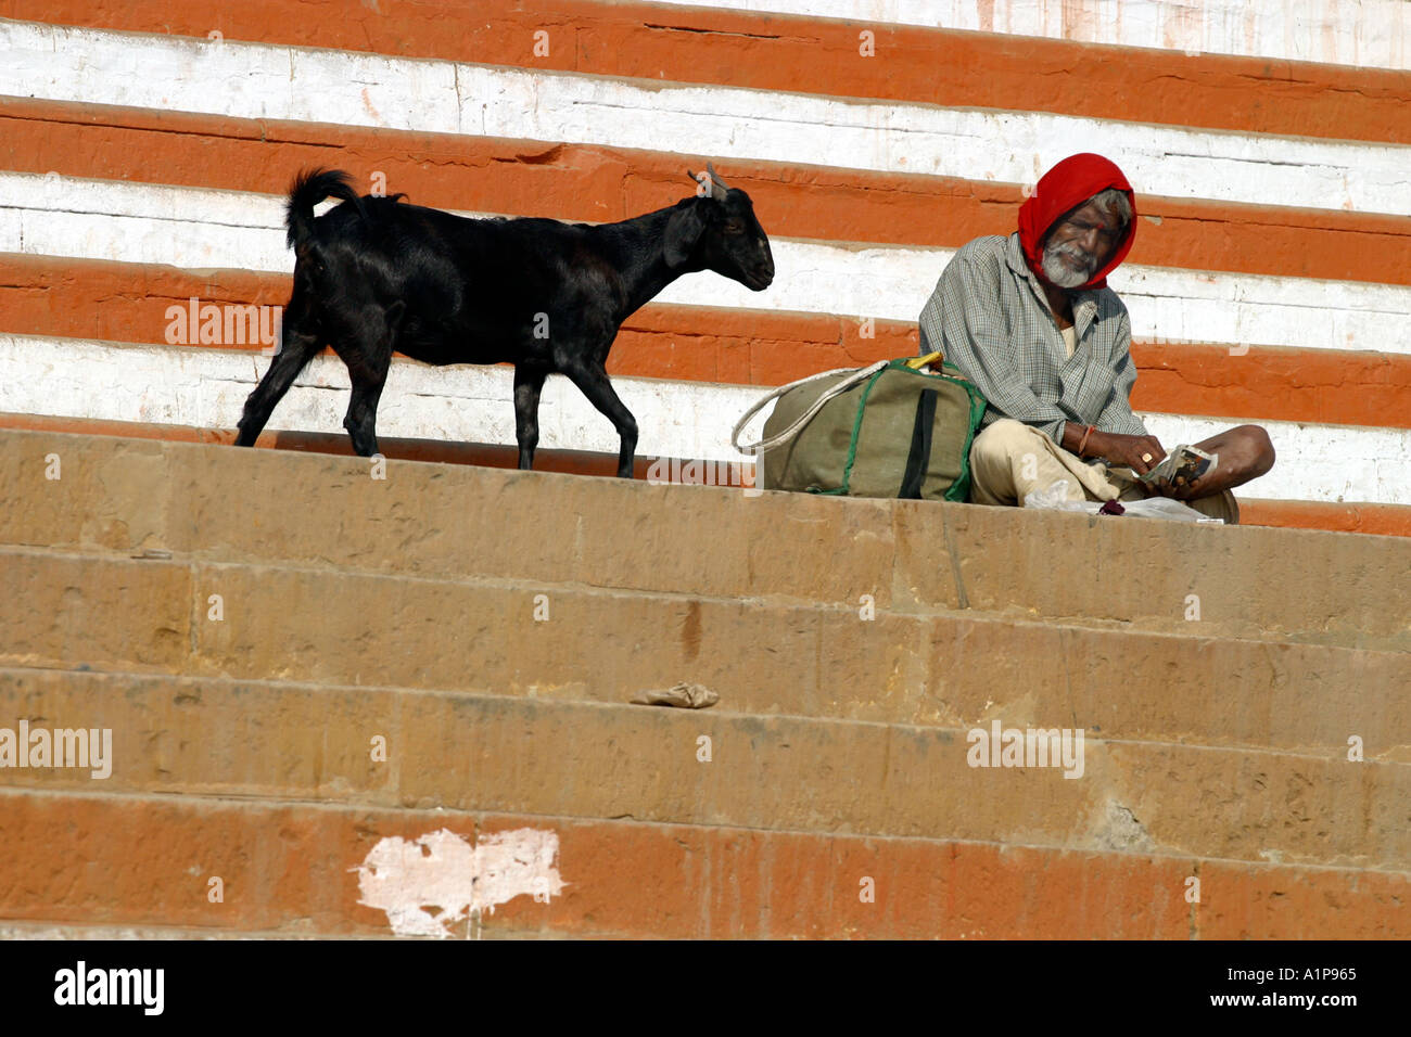
[[[1405, 875], [1156, 854], [35, 790], [0, 790], [0, 917], [68, 933], [1411, 937]], [[521, 866], [474, 902], [468, 848], [528, 841], [543, 882]]]

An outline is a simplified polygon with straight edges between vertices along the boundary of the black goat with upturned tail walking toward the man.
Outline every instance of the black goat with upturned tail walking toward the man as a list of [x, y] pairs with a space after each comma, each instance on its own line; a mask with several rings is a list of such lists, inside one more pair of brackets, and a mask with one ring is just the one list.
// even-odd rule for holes
[[[631, 478], [636, 420], [604, 367], [622, 322], [682, 274], [713, 269], [756, 292], [775, 277], [749, 196], [707, 169], [704, 196], [598, 226], [468, 220], [401, 205], [401, 195], [360, 198], [340, 171], [301, 174], [288, 205], [296, 261], [284, 337], [236, 444], [254, 444], [326, 343], [347, 364], [343, 426], [364, 457], [377, 453], [377, 401], [395, 351], [437, 365], [514, 364], [521, 468], [533, 467], [543, 380], [567, 375], [612, 422], [618, 475]], [[315, 219], [329, 196], [343, 205]]]

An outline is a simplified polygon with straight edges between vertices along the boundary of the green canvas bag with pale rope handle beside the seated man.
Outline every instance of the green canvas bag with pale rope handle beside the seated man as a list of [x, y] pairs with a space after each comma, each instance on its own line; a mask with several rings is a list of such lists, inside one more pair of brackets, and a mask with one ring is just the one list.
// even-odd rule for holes
[[[938, 360], [882, 360], [780, 387], [735, 425], [735, 449], [755, 454], [763, 490], [964, 501], [986, 404], [951, 364], [921, 370]], [[742, 446], [741, 430], [776, 398], [763, 439]]]

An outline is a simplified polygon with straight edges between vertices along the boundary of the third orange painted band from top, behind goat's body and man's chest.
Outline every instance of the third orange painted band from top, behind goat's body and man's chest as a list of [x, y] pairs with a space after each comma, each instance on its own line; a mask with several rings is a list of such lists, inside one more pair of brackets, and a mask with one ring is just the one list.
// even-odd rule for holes
[[[282, 306], [291, 279], [219, 269], [0, 254], [0, 334], [165, 344], [166, 309]], [[608, 371], [636, 378], [783, 385], [818, 371], [914, 356], [910, 322], [649, 303], [618, 334]], [[199, 344], [192, 348], [200, 348]], [[258, 344], [219, 348], [258, 350]], [[1411, 357], [1215, 344], [1133, 346], [1133, 406], [1158, 413], [1411, 427]]]

